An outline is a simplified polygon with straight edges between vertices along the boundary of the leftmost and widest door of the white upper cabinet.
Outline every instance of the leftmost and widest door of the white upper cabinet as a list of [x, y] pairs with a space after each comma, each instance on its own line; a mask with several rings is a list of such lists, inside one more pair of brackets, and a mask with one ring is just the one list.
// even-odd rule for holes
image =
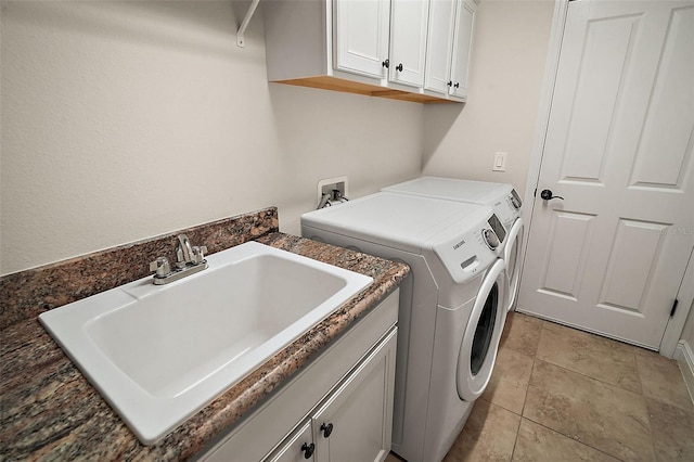
[[385, 78], [389, 0], [333, 0], [335, 63], [338, 70]]

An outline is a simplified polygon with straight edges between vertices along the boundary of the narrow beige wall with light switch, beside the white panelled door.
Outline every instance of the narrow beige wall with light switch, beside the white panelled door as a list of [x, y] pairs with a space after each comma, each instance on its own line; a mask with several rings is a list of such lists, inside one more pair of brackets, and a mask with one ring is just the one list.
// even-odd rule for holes
[[[523, 196], [535, 137], [552, 0], [484, 0], [464, 107], [427, 106], [423, 172], [512, 183]], [[496, 151], [505, 172], [491, 171]]]

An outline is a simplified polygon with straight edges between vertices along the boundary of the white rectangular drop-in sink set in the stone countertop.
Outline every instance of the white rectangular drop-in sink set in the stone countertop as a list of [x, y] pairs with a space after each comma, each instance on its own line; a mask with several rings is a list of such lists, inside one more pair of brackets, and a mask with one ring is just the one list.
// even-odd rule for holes
[[257, 242], [209, 268], [144, 278], [39, 320], [145, 445], [152, 445], [373, 281]]

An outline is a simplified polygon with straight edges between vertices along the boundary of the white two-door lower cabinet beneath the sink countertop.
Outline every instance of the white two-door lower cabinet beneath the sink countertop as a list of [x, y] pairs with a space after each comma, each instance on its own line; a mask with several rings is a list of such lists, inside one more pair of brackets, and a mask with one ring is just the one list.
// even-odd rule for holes
[[235, 424], [204, 461], [383, 461], [390, 451], [398, 291]]

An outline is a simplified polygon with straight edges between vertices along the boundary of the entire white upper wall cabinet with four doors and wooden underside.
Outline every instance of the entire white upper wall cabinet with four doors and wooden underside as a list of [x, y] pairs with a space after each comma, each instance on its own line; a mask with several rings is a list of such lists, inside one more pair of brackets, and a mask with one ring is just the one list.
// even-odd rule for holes
[[268, 80], [412, 102], [464, 101], [473, 1], [265, 2]]

